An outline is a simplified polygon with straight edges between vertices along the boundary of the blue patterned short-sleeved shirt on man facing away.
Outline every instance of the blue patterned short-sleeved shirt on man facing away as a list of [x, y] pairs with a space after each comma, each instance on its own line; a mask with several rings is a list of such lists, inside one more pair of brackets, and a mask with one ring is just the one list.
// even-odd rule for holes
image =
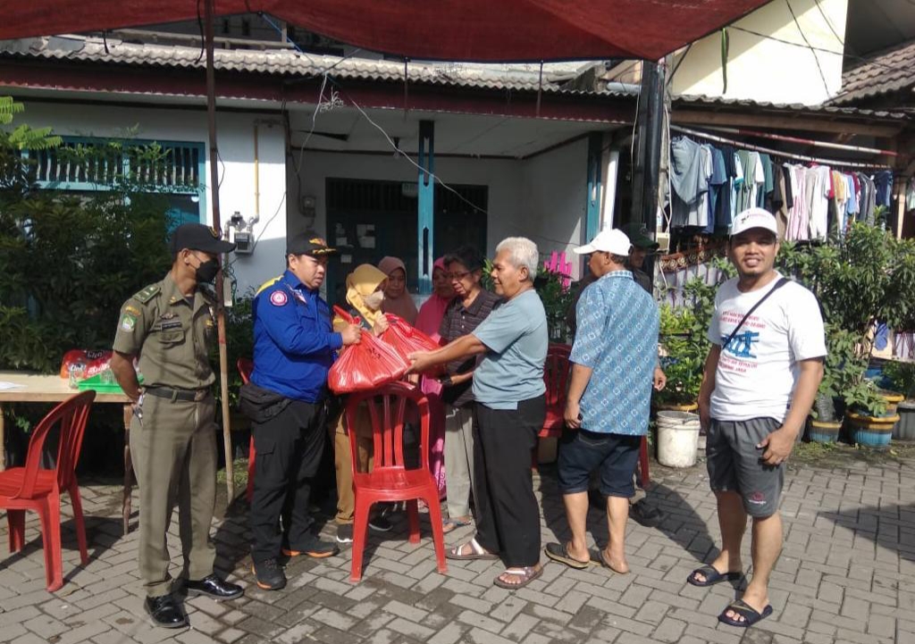
[[582, 428], [645, 435], [658, 358], [657, 304], [629, 271], [613, 271], [585, 289], [576, 317], [569, 360], [593, 370], [579, 402]]

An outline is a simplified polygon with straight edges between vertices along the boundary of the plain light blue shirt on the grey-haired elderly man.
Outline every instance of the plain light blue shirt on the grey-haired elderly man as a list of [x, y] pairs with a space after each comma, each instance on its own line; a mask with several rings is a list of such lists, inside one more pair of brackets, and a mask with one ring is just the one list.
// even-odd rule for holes
[[473, 335], [490, 349], [473, 372], [474, 400], [491, 409], [518, 409], [518, 402], [546, 392], [549, 334], [536, 291], [524, 291], [493, 309]]

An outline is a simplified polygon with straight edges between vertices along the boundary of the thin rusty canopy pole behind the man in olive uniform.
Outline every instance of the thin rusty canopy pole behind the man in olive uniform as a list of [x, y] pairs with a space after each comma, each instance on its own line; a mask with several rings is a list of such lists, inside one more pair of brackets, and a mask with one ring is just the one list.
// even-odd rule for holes
[[[213, 230], [222, 231], [220, 221], [220, 166], [216, 146], [216, 72], [213, 70], [213, 14], [215, 0], [204, 0], [203, 32], [207, 49], [207, 127], [210, 130], [210, 192], [213, 204]], [[225, 257], [220, 258], [225, 263]], [[222, 446], [226, 457], [226, 492], [228, 503], [235, 498], [235, 478], [232, 472], [231, 421], [229, 415], [229, 354], [226, 350], [225, 278], [216, 276], [216, 326], [220, 345], [220, 393], [222, 402]]]

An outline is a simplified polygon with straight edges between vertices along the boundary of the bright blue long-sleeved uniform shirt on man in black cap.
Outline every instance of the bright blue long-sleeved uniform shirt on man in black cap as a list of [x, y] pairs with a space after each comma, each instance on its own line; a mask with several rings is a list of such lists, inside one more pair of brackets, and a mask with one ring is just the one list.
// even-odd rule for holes
[[330, 326], [328, 303], [286, 271], [254, 296], [251, 381], [287, 398], [320, 402], [343, 338]]

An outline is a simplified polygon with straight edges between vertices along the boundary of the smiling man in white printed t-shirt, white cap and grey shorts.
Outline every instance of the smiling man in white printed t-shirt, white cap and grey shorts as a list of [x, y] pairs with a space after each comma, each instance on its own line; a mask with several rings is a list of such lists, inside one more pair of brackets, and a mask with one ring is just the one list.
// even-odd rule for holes
[[813, 293], [774, 269], [777, 231], [775, 218], [759, 208], [744, 210], [731, 226], [727, 252], [738, 276], [718, 289], [699, 392], [722, 544], [715, 561], [687, 581], [738, 582], [740, 543], [752, 517], [753, 577], [744, 596], [718, 616], [736, 627], [772, 612], [769, 576], [781, 552], [783, 463], [813, 405], [826, 355]]

